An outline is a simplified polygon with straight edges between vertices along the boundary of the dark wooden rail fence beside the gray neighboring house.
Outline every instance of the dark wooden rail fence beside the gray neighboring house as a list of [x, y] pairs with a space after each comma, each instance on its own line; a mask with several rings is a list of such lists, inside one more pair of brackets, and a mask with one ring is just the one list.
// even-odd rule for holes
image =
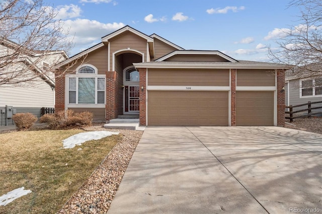
[[[316, 107], [311, 107], [312, 104], [318, 104], [318, 103], [321, 103], [321, 105], [316, 106]], [[293, 108], [300, 107], [300, 106], [306, 106], [306, 105], [307, 105], [306, 109], [293, 111]], [[317, 102], [308, 101], [307, 103], [299, 104], [299, 105], [289, 105], [289, 106], [286, 105], [285, 108], [289, 109], [289, 111], [285, 111], [285, 114], [289, 114], [289, 117], [285, 117], [285, 119], [289, 119], [290, 123], [292, 123], [293, 119], [295, 119], [295, 118], [305, 118], [305, 117], [310, 118], [312, 115], [322, 114], [322, 110], [321, 110], [321, 112], [314, 112], [314, 113], [311, 112], [311, 110], [313, 110], [313, 109], [322, 109], [322, 101], [317, 101]], [[305, 114], [305, 115], [294, 116], [294, 114], [296, 114], [296, 113], [306, 112], [306, 111], [307, 111], [307, 114]]]

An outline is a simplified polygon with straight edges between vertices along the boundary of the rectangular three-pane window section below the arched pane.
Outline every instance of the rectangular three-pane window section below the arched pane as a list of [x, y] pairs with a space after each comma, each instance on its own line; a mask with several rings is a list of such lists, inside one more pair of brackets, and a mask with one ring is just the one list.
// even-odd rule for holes
[[69, 77], [69, 104], [104, 104], [104, 77]]

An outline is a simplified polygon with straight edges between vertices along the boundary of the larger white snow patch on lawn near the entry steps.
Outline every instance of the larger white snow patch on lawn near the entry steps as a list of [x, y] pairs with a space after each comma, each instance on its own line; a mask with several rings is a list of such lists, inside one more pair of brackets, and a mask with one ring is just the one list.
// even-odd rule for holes
[[94, 131], [94, 132], [83, 132], [63, 140], [63, 148], [70, 149], [74, 148], [75, 145], [81, 146], [82, 143], [91, 140], [99, 140], [108, 136], [118, 135], [118, 132], [108, 132], [108, 131]]

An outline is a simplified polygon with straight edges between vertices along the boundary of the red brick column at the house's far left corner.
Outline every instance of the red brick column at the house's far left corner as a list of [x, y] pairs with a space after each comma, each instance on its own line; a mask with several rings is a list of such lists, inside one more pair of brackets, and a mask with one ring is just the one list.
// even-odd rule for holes
[[55, 72], [55, 112], [65, 110], [65, 74]]

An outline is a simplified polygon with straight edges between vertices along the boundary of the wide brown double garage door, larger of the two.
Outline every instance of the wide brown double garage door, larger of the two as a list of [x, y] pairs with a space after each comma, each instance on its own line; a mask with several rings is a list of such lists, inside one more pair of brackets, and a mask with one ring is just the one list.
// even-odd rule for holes
[[149, 126], [228, 126], [227, 91], [148, 91]]

